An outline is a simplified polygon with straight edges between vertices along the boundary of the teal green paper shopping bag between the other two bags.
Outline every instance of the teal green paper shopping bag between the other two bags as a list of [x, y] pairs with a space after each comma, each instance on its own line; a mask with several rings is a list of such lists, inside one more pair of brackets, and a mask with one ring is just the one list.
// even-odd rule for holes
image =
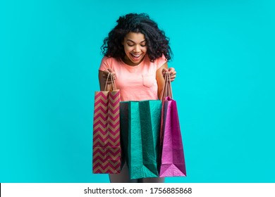
[[120, 103], [121, 146], [130, 179], [159, 177], [161, 101]]

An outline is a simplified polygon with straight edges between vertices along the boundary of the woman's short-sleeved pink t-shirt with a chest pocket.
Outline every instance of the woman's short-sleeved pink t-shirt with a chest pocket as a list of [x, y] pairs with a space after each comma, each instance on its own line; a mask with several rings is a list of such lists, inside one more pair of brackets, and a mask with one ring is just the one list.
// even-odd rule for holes
[[135, 66], [127, 65], [121, 59], [104, 56], [99, 70], [111, 68], [116, 72], [116, 87], [121, 92], [121, 101], [157, 100], [156, 72], [166, 63], [165, 56], [153, 63], [148, 56]]

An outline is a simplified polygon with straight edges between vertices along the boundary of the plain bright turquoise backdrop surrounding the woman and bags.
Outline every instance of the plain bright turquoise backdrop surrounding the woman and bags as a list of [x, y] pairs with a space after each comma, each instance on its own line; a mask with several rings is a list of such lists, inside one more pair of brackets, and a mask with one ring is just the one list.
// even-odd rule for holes
[[0, 182], [92, 174], [102, 40], [149, 13], [171, 39], [188, 177], [275, 182], [274, 1], [0, 1]]

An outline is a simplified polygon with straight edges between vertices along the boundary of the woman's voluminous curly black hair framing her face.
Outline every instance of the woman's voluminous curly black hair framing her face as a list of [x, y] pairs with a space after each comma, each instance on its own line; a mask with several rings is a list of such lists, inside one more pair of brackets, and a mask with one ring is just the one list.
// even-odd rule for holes
[[147, 43], [147, 55], [150, 61], [154, 62], [164, 54], [167, 61], [173, 55], [169, 46], [169, 38], [165, 32], [159, 30], [157, 23], [149, 18], [146, 13], [129, 13], [123, 15], [118, 20], [109, 36], [106, 37], [101, 46], [104, 56], [113, 58], [124, 58], [126, 55], [122, 45], [123, 39], [129, 32], [142, 33], [145, 35]]

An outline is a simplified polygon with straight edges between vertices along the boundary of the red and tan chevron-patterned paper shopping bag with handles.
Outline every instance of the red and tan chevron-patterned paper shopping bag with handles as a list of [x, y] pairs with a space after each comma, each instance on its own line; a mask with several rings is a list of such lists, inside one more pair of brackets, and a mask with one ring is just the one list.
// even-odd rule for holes
[[[120, 92], [111, 77], [111, 91], [94, 93], [94, 124], [92, 172], [94, 174], [118, 174], [121, 172], [121, 141], [119, 103]], [[106, 82], [107, 84], [107, 82]]]

